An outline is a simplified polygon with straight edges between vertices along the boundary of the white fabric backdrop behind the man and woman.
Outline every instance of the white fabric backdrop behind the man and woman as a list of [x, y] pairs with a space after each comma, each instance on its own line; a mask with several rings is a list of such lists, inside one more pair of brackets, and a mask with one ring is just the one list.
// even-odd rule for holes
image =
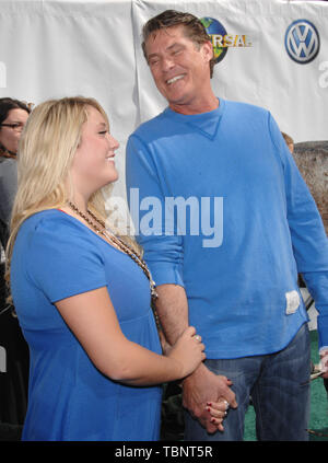
[[[38, 104], [60, 96], [99, 101], [119, 140], [115, 192], [125, 196], [129, 134], [165, 107], [141, 51], [141, 26], [173, 8], [219, 21], [234, 39], [215, 66], [218, 96], [265, 106], [295, 142], [328, 139], [328, 2], [282, 0], [0, 0], [0, 96]], [[296, 20], [318, 32], [317, 56], [289, 56]], [[241, 42], [239, 42], [241, 44]]]

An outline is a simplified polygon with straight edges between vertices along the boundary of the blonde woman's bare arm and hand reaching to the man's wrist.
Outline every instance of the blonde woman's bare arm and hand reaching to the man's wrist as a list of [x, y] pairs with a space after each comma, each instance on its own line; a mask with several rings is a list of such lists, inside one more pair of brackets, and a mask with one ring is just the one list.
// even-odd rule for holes
[[181, 379], [206, 358], [192, 327], [181, 334], [167, 357], [128, 340], [105, 287], [63, 299], [56, 306], [95, 367], [115, 381], [152, 385]]

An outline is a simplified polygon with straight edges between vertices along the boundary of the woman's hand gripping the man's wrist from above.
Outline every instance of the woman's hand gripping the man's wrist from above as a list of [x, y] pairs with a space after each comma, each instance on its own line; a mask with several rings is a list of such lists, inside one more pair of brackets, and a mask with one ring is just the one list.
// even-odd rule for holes
[[201, 343], [201, 337], [196, 335], [194, 326], [189, 326], [169, 349], [167, 357], [179, 363], [180, 378], [185, 378], [192, 373], [206, 359], [203, 350], [204, 345]]

